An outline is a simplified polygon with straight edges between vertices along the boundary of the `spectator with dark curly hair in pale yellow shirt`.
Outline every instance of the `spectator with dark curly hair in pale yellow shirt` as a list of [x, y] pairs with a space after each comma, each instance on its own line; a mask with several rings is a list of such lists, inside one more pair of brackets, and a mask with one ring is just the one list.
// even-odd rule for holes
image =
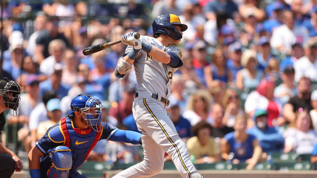
[[211, 137], [212, 126], [205, 121], [198, 122], [192, 128], [194, 137], [187, 140], [189, 155], [195, 156], [194, 164], [220, 161], [220, 146]]

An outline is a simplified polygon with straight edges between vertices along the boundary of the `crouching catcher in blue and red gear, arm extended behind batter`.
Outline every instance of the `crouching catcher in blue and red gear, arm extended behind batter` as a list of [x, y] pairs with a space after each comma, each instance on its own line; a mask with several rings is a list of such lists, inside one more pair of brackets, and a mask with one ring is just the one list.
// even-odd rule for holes
[[76, 171], [101, 139], [140, 144], [141, 134], [101, 122], [102, 104], [95, 96], [78, 95], [68, 116], [47, 130], [29, 152], [31, 178], [85, 178]]

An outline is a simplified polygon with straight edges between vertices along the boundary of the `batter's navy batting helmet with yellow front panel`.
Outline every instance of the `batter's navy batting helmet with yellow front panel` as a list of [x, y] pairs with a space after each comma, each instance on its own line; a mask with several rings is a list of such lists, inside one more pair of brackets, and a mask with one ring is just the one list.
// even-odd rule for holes
[[182, 32], [187, 30], [187, 25], [180, 23], [178, 16], [174, 14], [158, 16], [152, 23], [153, 36], [156, 38], [159, 34], [163, 34], [174, 40], [182, 39], [183, 35], [173, 25], [179, 25]]

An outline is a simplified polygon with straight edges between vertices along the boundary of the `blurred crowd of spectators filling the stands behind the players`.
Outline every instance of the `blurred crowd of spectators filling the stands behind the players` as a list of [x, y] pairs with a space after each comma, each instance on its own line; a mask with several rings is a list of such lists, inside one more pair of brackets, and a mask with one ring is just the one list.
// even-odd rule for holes
[[[103, 101], [103, 121], [138, 131], [135, 74], [113, 74], [126, 45], [88, 56], [82, 50], [131, 31], [152, 36], [156, 16], [175, 14], [188, 29], [166, 109], [192, 160], [252, 169], [270, 152], [317, 156], [316, 0], [36, 2], [1, 7], [1, 75], [23, 87], [18, 116], [7, 119], [27, 152], [80, 93]], [[89, 159], [137, 162], [139, 153], [101, 141]]]

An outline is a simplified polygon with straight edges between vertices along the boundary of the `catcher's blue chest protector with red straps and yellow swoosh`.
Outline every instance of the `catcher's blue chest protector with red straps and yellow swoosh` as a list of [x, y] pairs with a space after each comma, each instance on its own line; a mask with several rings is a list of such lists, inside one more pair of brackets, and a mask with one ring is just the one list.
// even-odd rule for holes
[[[60, 127], [65, 137], [64, 146], [67, 146], [73, 157], [73, 167], [71, 170], [76, 170], [86, 161], [90, 151], [94, 148], [102, 134], [93, 129], [77, 129], [73, 127], [70, 118], [62, 118]], [[102, 127], [102, 126], [101, 126]]]

